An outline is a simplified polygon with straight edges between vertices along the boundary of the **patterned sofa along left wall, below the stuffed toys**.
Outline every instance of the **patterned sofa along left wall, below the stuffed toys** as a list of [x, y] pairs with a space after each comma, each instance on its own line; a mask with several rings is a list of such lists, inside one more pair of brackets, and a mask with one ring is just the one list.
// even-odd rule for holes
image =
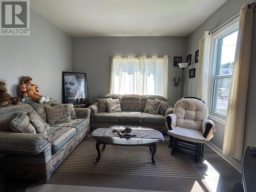
[[35, 111], [47, 121], [45, 106], [56, 103], [55, 100], [48, 103], [26, 102], [0, 107], [0, 154], [6, 154], [0, 159], [0, 168], [7, 177], [44, 183], [89, 134], [90, 109], [74, 108], [78, 118], [51, 126], [47, 135], [13, 133], [9, 122], [18, 112], [29, 114]]

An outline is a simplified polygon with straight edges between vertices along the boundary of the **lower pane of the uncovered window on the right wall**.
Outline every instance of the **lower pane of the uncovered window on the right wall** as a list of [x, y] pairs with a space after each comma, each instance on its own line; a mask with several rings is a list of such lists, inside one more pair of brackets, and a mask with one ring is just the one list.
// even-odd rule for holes
[[223, 115], [227, 114], [230, 84], [231, 78], [215, 79], [212, 111], [221, 113]]

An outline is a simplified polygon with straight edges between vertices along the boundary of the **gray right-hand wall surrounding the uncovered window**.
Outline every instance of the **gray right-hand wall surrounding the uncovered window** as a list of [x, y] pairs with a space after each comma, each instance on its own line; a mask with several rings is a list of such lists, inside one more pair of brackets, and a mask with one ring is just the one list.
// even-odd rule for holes
[[[197, 96], [197, 77], [198, 77], [198, 63], [195, 63], [195, 51], [199, 49], [199, 40], [203, 37], [204, 31], [212, 31], [225, 23], [228, 19], [232, 18], [234, 15], [240, 12], [243, 4], [252, 3], [251, 0], [229, 0], [220, 9], [218, 9], [214, 14], [205, 20], [205, 22], [200, 25], [193, 33], [191, 33], [187, 38], [187, 50], [186, 53], [192, 54], [191, 66], [188, 66], [184, 72], [184, 95], [185, 96]], [[255, 14], [254, 14], [255, 15]], [[255, 24], [255, 20], [254, 20]], [[256, 34], [255, 25], [253, 33], [253, 51], [256, 51]], [[253, 56], [253, 55], [252, 55]], [[249, 88], [248, 88], [248, 101], [247, 101], [247, 117], [246, 117], [246, 132], [245, 132], [245, 146], [256, 145], [256, 129], [253, 126], [253, 116], [256, 109], [256, 77], [254, 72], [255, 58], [251, 57], [251, 73], [249, 77]], [[189, 69], [196, 68], [196, 78], [188, 78]], [[215, 121], [216, 130], [215, 137], [211, 140], [213, 144], [222, 150], [223, 138], [224, 138], [224, 128], [225, 126], [221, 123]]]

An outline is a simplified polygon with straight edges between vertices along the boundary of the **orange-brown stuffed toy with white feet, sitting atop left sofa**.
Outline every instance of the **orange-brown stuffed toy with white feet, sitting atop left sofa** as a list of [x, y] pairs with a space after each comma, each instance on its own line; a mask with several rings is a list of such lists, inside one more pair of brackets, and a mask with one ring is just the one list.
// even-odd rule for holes
[[22, 92], [25, 98], [29, 97], [35, 102], [43, 103], [48, 102], [50, 100], [49, 97], [45, 97], [44, 95], [40, 95], [39, 87], [37, 84], [33, 84], [32, 78], [30, 76], [23, 77], [20, 80], [20, 92]]

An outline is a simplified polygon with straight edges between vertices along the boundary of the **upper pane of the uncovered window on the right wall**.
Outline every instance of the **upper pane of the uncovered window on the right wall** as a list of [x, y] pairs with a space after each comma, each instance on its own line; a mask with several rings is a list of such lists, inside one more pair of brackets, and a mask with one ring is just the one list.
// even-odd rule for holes
[[219, 39], [216, 75], [232, 75], [238, 31]]

